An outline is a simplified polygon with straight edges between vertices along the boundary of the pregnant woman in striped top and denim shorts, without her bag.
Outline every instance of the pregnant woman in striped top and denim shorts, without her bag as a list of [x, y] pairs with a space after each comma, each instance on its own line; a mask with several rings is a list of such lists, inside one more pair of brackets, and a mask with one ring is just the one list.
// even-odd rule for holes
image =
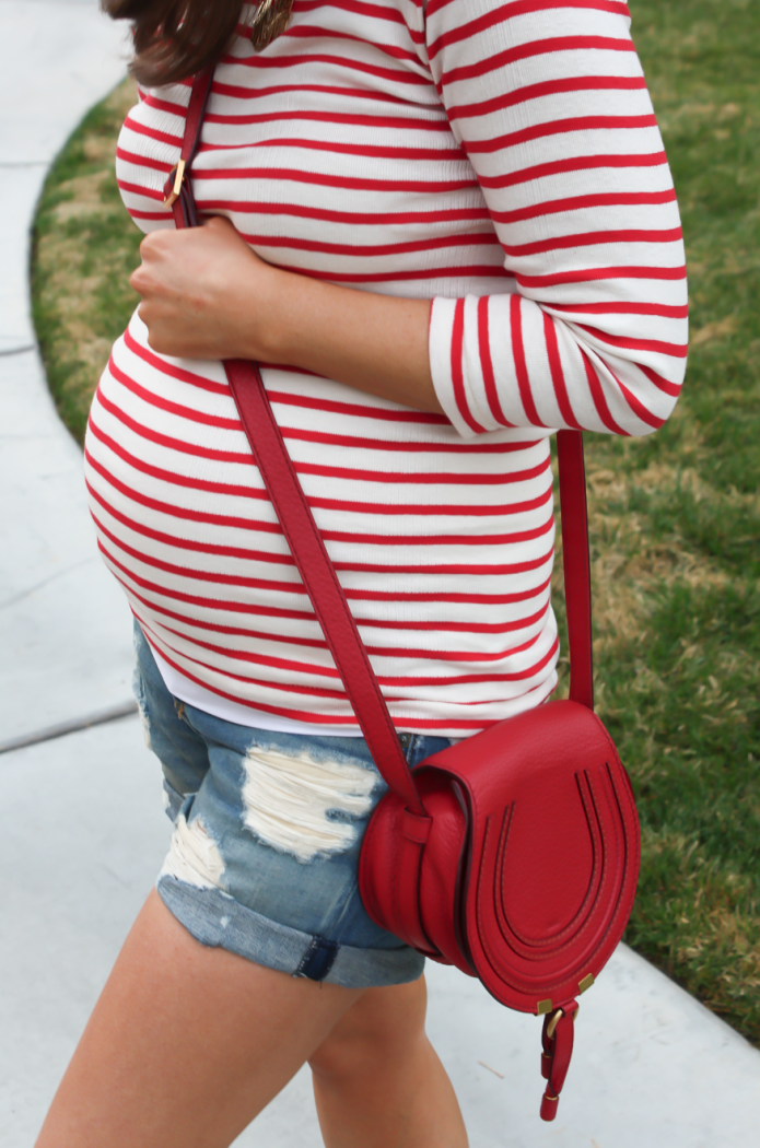
[[[220, 360], [262, 366], [410, 765], [546, 700], [550, 436], [649, 434], [685, 363], [629, 13], [104, 7], [133, 22], [117, 174], [147, 238], [86, 479], [175, 830], [38, 1145], [222, 1148], [308, 1062], [328, 1148], [463, 1148], [422, 957], [357, 891], [385, 783]], [[204, 225], [176, 231], [163, 187], [212, 63]]]

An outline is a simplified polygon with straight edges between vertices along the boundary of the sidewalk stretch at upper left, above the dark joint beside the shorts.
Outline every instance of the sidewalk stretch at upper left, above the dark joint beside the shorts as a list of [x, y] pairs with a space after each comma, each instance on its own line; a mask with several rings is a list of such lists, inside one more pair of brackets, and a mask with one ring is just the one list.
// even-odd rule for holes
[[129, 610], [103, 576], [28, 285], [45, 174], [124, 75], [122, 40], [92, 0], [0, 0], [0, 743], [130, 699]]

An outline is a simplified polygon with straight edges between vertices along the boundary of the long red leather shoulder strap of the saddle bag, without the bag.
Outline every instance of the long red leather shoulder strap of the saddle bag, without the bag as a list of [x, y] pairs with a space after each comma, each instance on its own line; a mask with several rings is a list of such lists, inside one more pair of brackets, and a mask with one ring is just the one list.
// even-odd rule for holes
[[[196, 225], [192, 188], [185, 179], [195, 155], [214, 69], [193, 84], [183, 141], [185, 165], [170, 173], [164, 194], [178, 227]], [[181, 158], [181, 157], [180, 157]], [[346, 595], [295, 473], [290, 456], [255, 363], [228, 359], [224, 364], [235, 405], [305, 590], [311, 599], [335, 666], [372, 757], [388, 783], [410, 810], [425, 815], [393, 720], [354, 621]], [[571, 699], [594, 708], [591, 664], [591, 581], [580, 430], [559, 430], [559, 497], [563, 514], [565, 597], [571, 658]]]

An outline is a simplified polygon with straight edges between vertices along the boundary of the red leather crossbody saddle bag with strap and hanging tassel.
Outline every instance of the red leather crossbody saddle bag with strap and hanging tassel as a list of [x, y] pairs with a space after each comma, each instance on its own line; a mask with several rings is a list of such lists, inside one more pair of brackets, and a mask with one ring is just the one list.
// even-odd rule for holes
[[[178, 227], [197, 223], [184, 178], [212, 70], [193, 85], [181, 158], [165, 186]], [[594, 713], [583, 440], [557, 435], [569, 699], [490, 726], [412, 771], [254, 363], [225, 363], [242, 425], [346, 692], [389, 792], [359, 861], [364, 906], [426, 956], [544, 1016], [541, 1104], [555, 1118], [577, 995], [620, 941], [638, 877], [628, 775]]]

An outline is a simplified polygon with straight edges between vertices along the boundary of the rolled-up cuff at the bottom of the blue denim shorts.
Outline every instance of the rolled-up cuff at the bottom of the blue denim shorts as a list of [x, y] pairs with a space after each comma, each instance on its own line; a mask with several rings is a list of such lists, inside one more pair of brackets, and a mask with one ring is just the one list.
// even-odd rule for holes
[[218, 889], [199, 889], [162, 876], [158, 895], [201, 945], [226, 948], [267, 969], [344, 988], [373, 988], [417, 980], [425, 957], [400, 948], [356, 948], [278, 924]]

